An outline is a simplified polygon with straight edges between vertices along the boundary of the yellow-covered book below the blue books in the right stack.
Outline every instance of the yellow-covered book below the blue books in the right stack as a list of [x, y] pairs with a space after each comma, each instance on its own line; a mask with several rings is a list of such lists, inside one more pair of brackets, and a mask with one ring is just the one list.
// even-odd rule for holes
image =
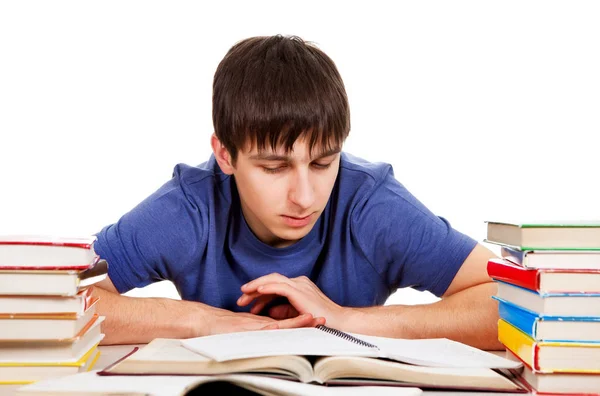
[[498, 340], [536, 373], [600, 373], [600, 343], [536, 342], [503, 319]]

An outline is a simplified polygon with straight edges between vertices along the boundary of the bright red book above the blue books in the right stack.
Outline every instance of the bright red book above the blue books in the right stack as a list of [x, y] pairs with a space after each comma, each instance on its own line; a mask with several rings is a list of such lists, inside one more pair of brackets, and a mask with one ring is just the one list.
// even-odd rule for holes
[[488, 261], [488, 275], [540, 294], [600, 293], [600, 270], [530, 269], [508, 260]]

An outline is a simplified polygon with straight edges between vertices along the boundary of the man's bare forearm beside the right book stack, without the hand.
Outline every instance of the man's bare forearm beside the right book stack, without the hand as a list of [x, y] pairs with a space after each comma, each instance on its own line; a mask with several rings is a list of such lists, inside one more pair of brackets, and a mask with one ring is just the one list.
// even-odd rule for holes
[[457, 292], [433, 304], [352, 308], [344, 331], [396, 338], [449, 338], [480, 349], [504, 349], [498, 342], [494, 283]]

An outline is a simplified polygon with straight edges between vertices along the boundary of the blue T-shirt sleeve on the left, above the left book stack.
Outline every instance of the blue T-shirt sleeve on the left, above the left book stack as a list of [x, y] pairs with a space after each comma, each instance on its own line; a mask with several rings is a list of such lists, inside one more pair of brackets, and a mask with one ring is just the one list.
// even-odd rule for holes
[[119, 293], [160, 280], [173, 280], [199, 261], [202, 208], [188, 199], [176, 167], [173, 178], [96, 236], [96, 253], [108, 262]]

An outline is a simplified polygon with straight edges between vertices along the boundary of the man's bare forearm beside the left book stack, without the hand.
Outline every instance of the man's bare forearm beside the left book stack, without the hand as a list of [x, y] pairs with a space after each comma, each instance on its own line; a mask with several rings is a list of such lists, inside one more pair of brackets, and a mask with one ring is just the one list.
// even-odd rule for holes
[[190, 338], [207, 332], [208, 306], [168, 298], [135, 298], [94, 288], [98, 314], [105, 316], [102, 344], [141, 344], [154, 338]]

